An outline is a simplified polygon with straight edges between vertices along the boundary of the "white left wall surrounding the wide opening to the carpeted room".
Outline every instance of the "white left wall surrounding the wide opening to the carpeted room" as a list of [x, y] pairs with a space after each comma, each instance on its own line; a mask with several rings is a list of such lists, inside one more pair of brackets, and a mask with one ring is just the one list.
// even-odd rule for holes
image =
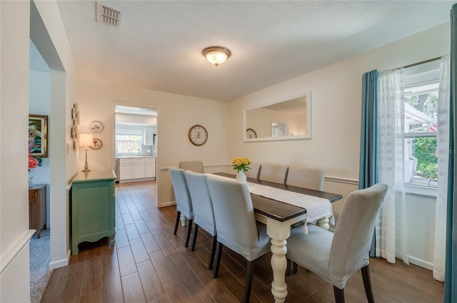
[[54, 70], [49, 111], [51, 268], [68, 263], [66, 176], [75, 173], [76, 155], [66, 156], [70, 133], [66, 108], [74, 101], [74, 67], [56, 1], [37, 1], [36, 6], [29, 1], [0, 1], [0, 11], [0, 301], [29, 302], [29, 239], [34, 231], [29, 230], [24, 134], [29, 116], [30, 38]]

